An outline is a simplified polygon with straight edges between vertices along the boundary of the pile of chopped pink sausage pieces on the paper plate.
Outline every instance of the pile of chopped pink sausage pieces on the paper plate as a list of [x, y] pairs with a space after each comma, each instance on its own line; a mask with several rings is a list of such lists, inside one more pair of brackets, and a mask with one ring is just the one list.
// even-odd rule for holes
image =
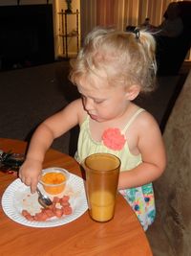
[[69, 196], [63, 196], [62, 198], [54, 197], [53, 204], [47, 208], [41, 208], [39, 213], [32, 215], [26, 209], [23, 209], [21, 214], [28, 221], [47, 221], [53, 217], [61, 218], [65, 215], [71, 215], [73, 209], [69, 199]]

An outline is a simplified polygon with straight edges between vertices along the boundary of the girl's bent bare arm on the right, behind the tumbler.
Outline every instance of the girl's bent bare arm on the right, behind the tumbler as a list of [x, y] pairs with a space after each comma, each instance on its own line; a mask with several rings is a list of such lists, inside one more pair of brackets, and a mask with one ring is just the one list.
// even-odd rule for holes
[[159, 127], [150, 115], [143, 115], [141, 124], [138, 124], [138, 151], [142, 155], [142, 163], [130, 171], [120, 173], [118, 189], [138, 187], [152, 182], [165, 169], [166, 154]]

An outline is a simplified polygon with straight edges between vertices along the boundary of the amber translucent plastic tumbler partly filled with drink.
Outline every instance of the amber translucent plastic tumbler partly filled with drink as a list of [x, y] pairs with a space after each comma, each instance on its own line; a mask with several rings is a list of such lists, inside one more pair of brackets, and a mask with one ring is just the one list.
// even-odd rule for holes
[[115, 215], [120, 160], [110, 153], [88, 156], [83, 168], [89, 213], [94, 221], [110, 221]]

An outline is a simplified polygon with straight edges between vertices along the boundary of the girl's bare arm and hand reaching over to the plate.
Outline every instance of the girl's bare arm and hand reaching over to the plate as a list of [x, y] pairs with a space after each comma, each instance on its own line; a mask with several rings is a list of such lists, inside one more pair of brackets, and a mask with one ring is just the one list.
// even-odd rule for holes
[[51, 147], [53, 139], [77, 125], [82, 111], [81, 100], [74, 101], [36, 128], [32, 135], [26, 160], [19, 170], [21, 180], [26, 185], [31, 186], [32, 193], [36, 190], [44, 156]]

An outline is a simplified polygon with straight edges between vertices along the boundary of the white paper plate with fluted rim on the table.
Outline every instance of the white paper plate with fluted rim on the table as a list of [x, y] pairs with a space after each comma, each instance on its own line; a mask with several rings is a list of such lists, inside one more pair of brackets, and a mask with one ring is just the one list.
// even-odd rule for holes
[[[41, 184], [38, 184], [38, 186], [40, 190], [45, 193]], [[31, 194], [30, 187], [26, 186], [19, 178], [17, 178], [4, 192], [2, 197], [2, 207], [5, 214], [12, 221], [16, 221], [20, 224], [32, 227], [59, 226], [76, 220], [88, 209], [84, 183], [81, 177], [70, 174], [66, 189], [62, 194], [70, 196], [70, 203], [73, 208], [73, 213], [71, 215], [63, 216], [59, 219], [53, 217], [47, 221], [28, 221], [22, 216], [22, 210], [26, 209], [31, 214], [35, 214], [40, 211], [41, 206], [37, 200], [37, 193]], [[59, 196], [61, 197], [63, 195], [60, 194]]]

